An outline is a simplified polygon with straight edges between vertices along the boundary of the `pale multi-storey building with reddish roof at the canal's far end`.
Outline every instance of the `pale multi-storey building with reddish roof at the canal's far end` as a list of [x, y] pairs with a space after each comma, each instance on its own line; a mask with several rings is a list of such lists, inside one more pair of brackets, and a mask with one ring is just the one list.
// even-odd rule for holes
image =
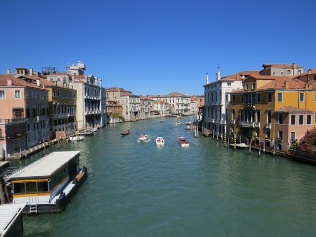
[[165, 101], [169, 105], [174, 106], [174, 114], [191, 115], [190, 96], [179, 92], [172, 92], [166, 95], [148, 95], [153, 100]]

